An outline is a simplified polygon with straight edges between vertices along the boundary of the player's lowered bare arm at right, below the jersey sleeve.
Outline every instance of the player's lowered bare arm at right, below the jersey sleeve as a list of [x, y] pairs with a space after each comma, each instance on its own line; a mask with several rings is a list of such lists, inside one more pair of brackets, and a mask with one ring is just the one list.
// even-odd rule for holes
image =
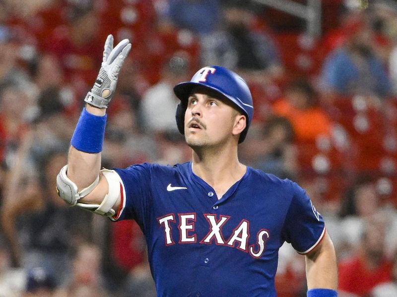
[[335, 249], [326, 233], [319, 245], [306, 254], [308, 296], [336, 297], [336, 267]]

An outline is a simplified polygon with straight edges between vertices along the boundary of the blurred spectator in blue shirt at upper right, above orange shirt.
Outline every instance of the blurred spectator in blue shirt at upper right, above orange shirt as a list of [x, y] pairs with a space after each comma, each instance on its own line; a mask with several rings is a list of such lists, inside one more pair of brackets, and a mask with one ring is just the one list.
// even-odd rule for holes
[[375, 43], [374, 31], [364, 17], [350, 25], [343, 45], [331, 51], [323, 63], [326, 99], [353, 94], [384, 98], [390, 94], [390, 81]]

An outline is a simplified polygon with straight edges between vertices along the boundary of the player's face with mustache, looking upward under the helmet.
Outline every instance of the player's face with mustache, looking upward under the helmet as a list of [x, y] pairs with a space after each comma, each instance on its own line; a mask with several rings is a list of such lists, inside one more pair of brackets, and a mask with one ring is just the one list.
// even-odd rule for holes
[[196, 89], [188, 99], [185, 138], [192, 148], [217, 146], [235, 138], [245, 128], [245, 116], [216, 93]]

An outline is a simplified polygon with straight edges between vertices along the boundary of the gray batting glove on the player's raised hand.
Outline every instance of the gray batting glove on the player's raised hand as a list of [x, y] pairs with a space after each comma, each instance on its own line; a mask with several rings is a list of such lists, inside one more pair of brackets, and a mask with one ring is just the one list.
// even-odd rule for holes
[[113, 49], [113, 36], [108, 36], [103, 51], [101, 69], [95, 80], [94, 87], [91, 89], [91, 92], [88, 92], [87, 96], [85, 96], [85, 102], [98, 108], [108, 107], [109, 101], [113, 98], [116, 91], [120, 69], [130, 49], [131, 43], [128, 39], [122, 40], [116, 48]]

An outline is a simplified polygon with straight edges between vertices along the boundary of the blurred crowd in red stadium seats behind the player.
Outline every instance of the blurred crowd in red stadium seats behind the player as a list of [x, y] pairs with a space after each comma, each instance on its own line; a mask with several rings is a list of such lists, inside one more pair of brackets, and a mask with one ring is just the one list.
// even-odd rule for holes
[[[255, 105], [240, 160], [307, 191], [339, 296], [397, 296], [397, 3], [322, 4], [323, 33], [310, 36], [260, 1], [0, 0], [0, 297], [155, 296], [139, 227], [55, 189], [108, 34], [132, 50], [103, 167], [189, 160], [173, 86], [204, 65], [233, 69]], [[278, 296], [306, 296], [304, 269], [281, 247]]]

